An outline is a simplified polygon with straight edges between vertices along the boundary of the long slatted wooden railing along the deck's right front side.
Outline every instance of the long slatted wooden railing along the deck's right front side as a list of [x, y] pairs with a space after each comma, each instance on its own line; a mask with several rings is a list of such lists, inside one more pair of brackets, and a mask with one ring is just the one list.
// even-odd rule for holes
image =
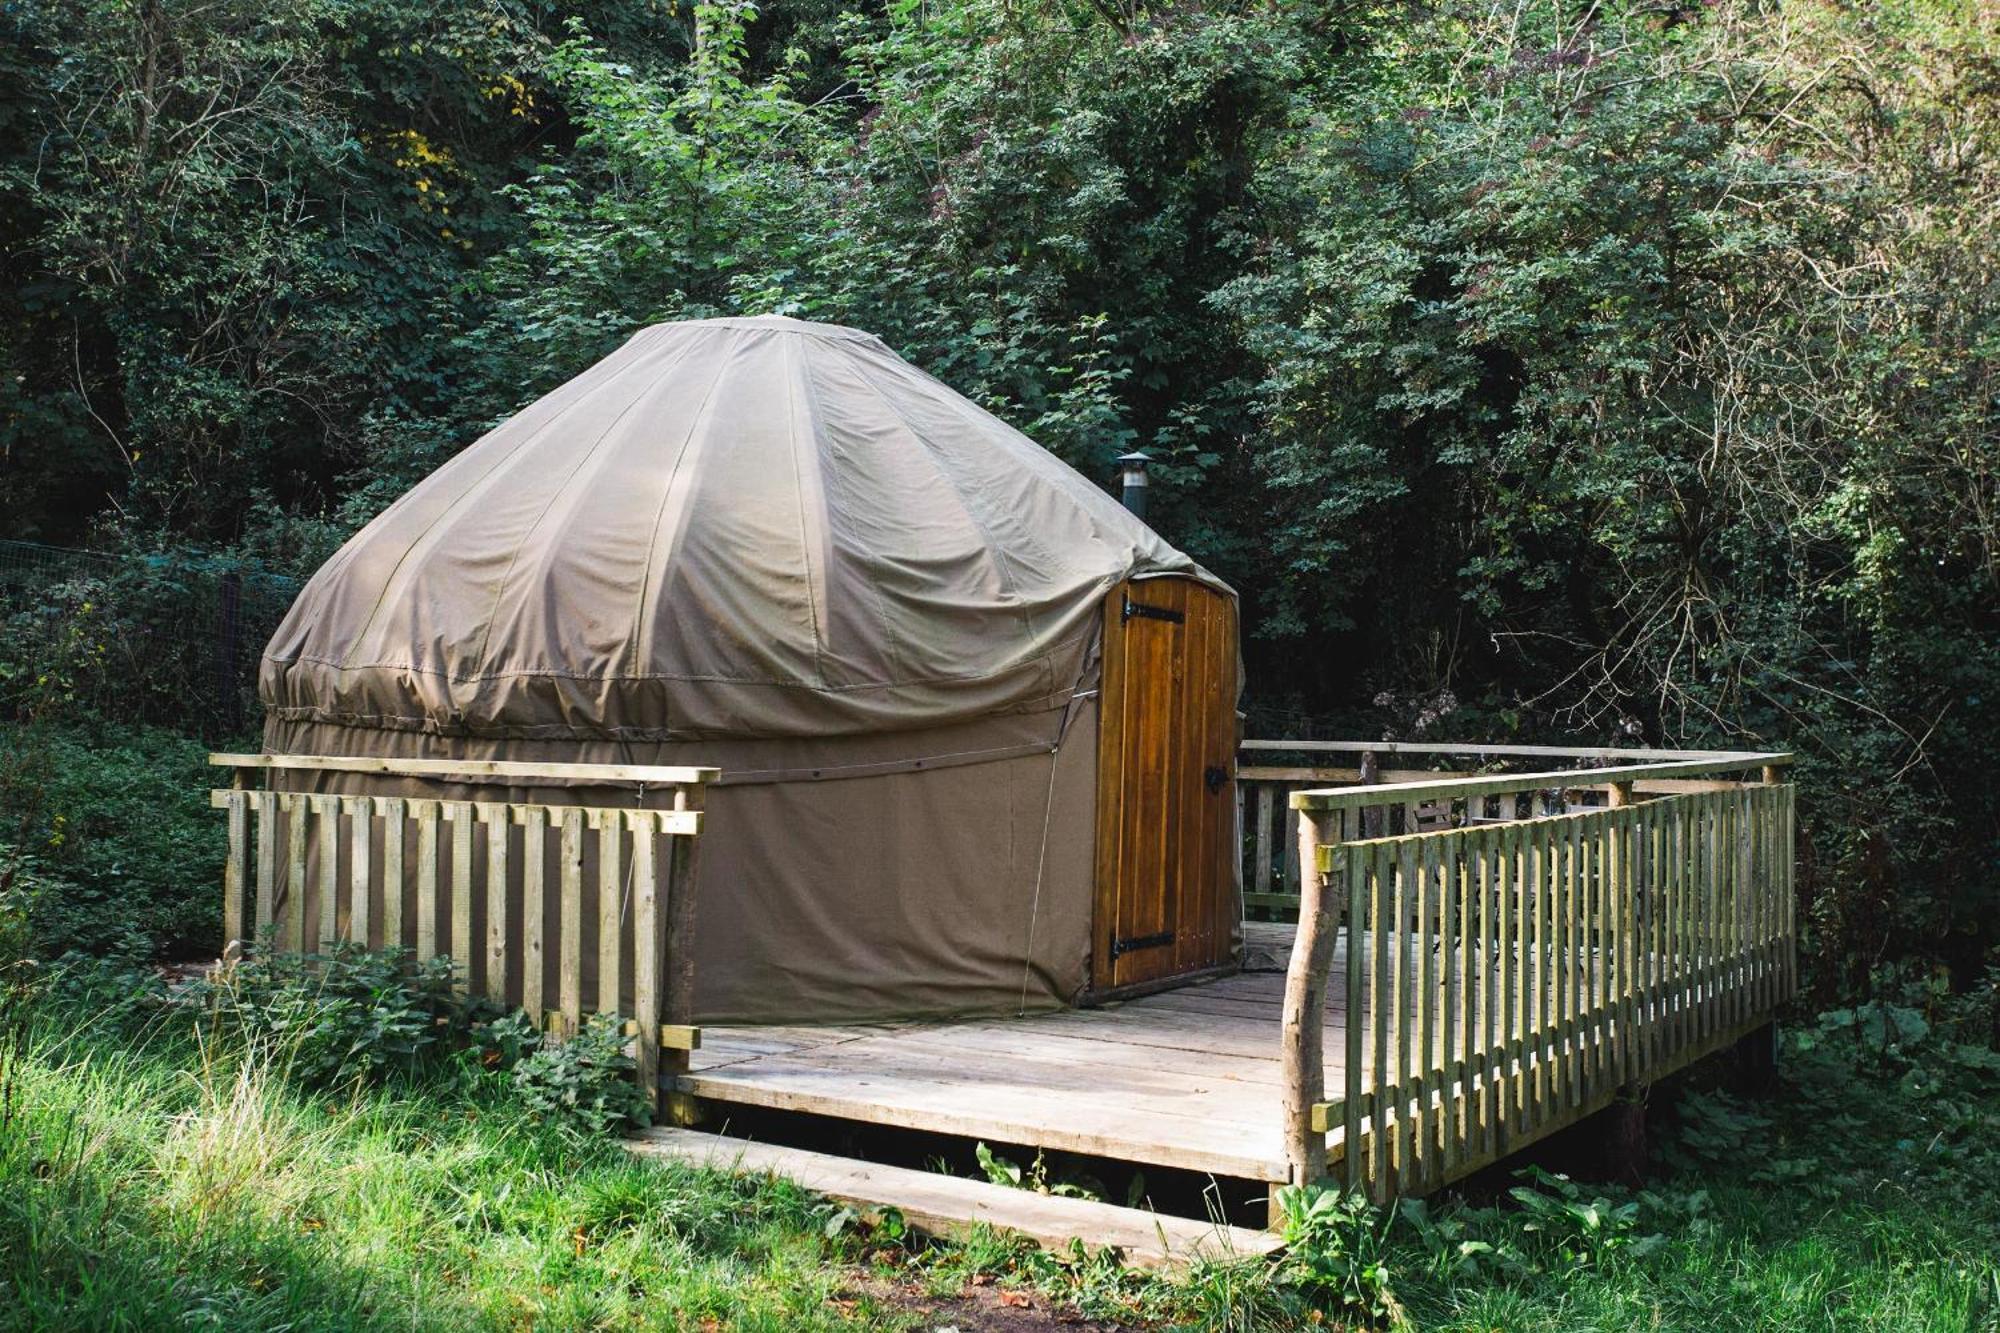
[[[1312, 873], [1284, 1005], [1294, 1179], [1324, 1177], [1338, 1135], [1350, 1189], [1434, 1189], [1768, 1023], [1796, 989], [1786, 763], [1296, 793]], [[1754, 781], [1724, 781], [1746, 769]], [[1504, 809], [1576, 783], [1606, 805]], [[1382, 805], [1434, 809], [1440, 827], [1368, 837]]]

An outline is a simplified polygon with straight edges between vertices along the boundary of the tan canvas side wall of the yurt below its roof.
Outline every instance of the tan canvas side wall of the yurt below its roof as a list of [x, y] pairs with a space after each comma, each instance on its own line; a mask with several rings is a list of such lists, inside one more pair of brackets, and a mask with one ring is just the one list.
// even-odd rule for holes
[[[1080, 701], [1066, 729], [1062, 723], [1064, 713], [1052, 711], [838, 743], [634, 747], [272, 721], [266, 745], [294, 755], [720, 765], [738, 777], [708, 793], [696, 885], [696, 1017], [836, 1023], [1050, 1009], [1082, 993], [1096, 847], [1096, 703]], [[1050, 753], [1058, 731], [1060, 749]], [[314, 781], [316, 791], [558, 799], [552, 789], [424, 783], [418, 791], [362, 775]], [[572, 789], [564, 799], [622, 803], [634, 793]], [[594, 857], [590, 839], [586, 883], [596, 883]], [[374, 865], [382, 865], [380, 855]], [[510, 865], [518, 869], [520, 857]], [[554, 883], [554, 865], [548, 875]], [[474, 941], [484, 939], [484, 865], [474, 863]], [[510, 889], [518, 913], [520, 881]], [[310, 893], [304, 909], [306, 921], [318, 919]], [[596, 923], [596, 913], [586, 901], [584, 921]], [[416, 921], [414, 901], [406, 901], [404, 921]], [[438, 937], [452, 937], [450, 903], [438, 907]], [[594, 961], [586, 941], [586, 995], [596, 989]], [[554, 959], [544, 983], [554, 995]], [[518, 977], [508, 989], [518, 993]]]

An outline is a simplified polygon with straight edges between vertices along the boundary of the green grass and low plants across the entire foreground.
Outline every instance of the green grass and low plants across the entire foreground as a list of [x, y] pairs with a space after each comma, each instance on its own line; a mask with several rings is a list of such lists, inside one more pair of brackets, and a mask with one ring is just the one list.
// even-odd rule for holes
[[4, 1033], [0, 1327], [2000, 1329], [2000, 1097], [1976, 1065], [1916, 1097], [1908, 1059], [1822, 1051], [1774, 1103], [1692, 1097], [1646, 1191], [1350, 1209], [1288, 1263], [1164, 1281], [632, 1161], [470, 1059], [304, 1093], [268, 1051], [62, 987]]

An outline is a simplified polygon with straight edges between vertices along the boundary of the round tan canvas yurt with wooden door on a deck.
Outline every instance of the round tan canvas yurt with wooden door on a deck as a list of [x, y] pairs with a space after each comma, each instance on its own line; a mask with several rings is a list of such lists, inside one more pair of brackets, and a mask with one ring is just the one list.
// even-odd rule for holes
[[638, 332], [342, 546], [260, 689], [274, 755], [720, 769], [700, 1021], [1048, 1009], [1240, 947], [1232, 592], [852, 328]]

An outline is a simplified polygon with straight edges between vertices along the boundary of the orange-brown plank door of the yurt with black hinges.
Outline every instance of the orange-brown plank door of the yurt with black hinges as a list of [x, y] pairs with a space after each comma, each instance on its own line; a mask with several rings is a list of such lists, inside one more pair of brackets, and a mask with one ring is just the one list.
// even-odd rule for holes
[[1236, 929], [1236, 604], [1192, 578], [1104, 602], [1096, 993], [1230, 961]]

